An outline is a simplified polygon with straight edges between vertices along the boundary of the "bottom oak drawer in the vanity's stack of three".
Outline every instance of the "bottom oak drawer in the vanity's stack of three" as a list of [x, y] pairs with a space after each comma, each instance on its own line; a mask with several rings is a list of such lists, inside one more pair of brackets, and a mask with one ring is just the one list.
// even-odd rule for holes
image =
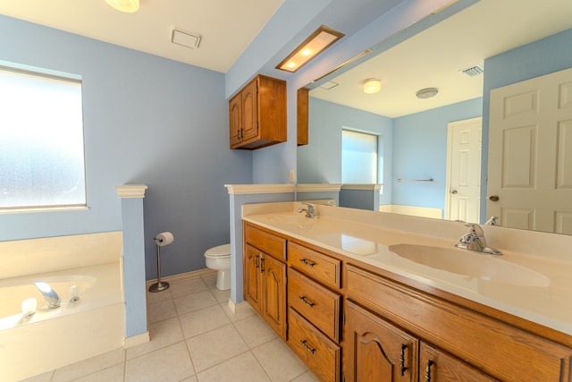
[[288, 344], [321, 381], [339, 381], [341, 348], [320, 333], [296, 310], [289, 309]]

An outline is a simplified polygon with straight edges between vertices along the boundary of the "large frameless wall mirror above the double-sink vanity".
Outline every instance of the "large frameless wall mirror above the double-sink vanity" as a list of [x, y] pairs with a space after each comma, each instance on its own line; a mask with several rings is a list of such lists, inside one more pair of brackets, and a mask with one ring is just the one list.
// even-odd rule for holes
[[[495, 216], [499, 225], [572, 233], [572, 72], [565, 71], [571, 47], [569, 0], [481, 0], [308, 84], [308, 144], [298, 149], [298, 183], [343, 183], [342, 131], [366, 132], [379, 138], [380, 210], [411, 207], [410, 215], [431, 210], [480, 223]], [[548, 90], [498, 90], [554, 72], [564, 76], [557, 109], [568, 114], [545, 112], [559, 115], [550, 127], [534, 119]], [[366, 94], [369, 79], [381, 81], [381, 89]], [[416, 95], [431, 88], [433, 97], [430, 90]], [[498, 120], [509, 114], [520, 124], [499, 132]], [[549, 128], [556, 138], [543, 143]], [[543, 184], [557, 193], [537, 192]], [[543, 211], [550, 199], [556, 208]]]

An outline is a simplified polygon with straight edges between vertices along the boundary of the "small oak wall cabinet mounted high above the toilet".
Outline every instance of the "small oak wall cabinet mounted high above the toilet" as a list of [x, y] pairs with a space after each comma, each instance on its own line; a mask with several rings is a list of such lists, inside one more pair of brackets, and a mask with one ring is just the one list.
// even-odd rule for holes
[[260, 149], [287, 140], [286, 81], [258, 75], [229, 100], [231, 149]]

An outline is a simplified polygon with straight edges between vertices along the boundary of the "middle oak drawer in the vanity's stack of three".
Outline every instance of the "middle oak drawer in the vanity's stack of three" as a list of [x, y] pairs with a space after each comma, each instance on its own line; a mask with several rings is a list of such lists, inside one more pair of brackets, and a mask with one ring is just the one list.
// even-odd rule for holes
[[336, 342], [340, 342], [341, 296], [294, 269], [288, 272], [290, 306]]

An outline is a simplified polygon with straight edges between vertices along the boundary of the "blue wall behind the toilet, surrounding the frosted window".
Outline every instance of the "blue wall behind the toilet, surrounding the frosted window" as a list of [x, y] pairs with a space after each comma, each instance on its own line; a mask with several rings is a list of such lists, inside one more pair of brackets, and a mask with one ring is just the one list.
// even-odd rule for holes
[[252, 154], [228, 147], [223, 73], [2, 15], [0, 34], [0, 60], [83, 78], [89, 207], [0, 215], [0, 240], [121, 230], [114, 186], [144, 183], [147, 279], [162, 231], [175, 237], [164, 276], [204, 268], [204, 251], [229, 242], [223, 184], [252, 182]]

